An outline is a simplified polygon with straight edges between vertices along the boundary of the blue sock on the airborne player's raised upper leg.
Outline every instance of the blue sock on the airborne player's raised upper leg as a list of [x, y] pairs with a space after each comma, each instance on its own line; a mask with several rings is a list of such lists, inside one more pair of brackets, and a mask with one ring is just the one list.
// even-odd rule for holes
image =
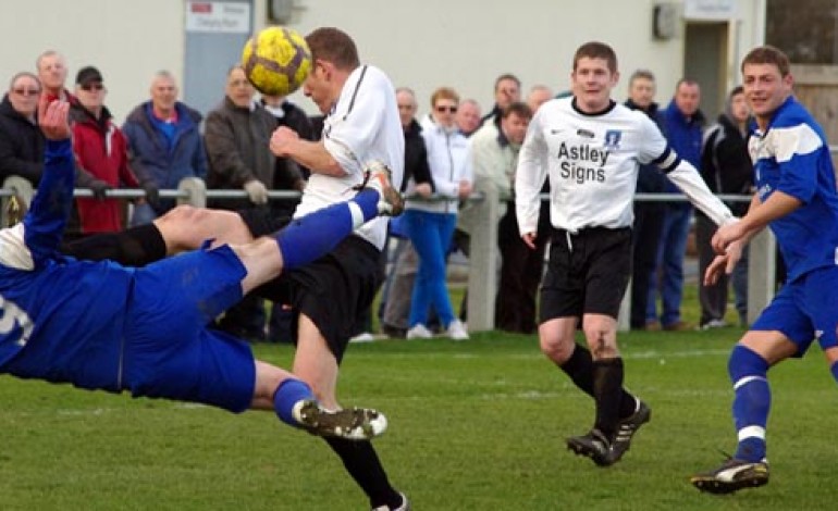
[[348, 202], [332, 204], [294, 220], [274, 235], [283, 269], [306, 265], [331, 252], [355, 228], [378, 215], [379, 192], [365, 188]]

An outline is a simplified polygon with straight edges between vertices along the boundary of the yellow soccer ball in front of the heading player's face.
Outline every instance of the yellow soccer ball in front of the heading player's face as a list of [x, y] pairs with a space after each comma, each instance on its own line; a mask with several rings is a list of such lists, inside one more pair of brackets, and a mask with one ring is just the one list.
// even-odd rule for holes
[[287, 96], [303, 85], [311, 71], [311, 50], [298, 32], [272, 26], [245, 43], [242, 66], [256, 90]]

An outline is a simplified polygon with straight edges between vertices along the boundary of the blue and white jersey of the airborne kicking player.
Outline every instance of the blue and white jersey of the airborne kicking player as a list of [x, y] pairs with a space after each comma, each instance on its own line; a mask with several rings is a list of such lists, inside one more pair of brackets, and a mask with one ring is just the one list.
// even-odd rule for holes
[[[22, 223], [0, 230], [0, 367], [29, 345], [54, 342], [38, 350], [53, 361], [85, 357], [75, 351], [91, 339], [99, 349], [119, 352], [133, 270], [59, 253], [73, 177], [70, 141], [49, 141], [39, 192], [29, 211]], [[56, 342], [71, 337], [79, 342]], [[104, 388], [116, 383], [118, 367], [112, 370], [113, 381]], [[62, 374], [48, 374], [46, 379], [66, 381]]]

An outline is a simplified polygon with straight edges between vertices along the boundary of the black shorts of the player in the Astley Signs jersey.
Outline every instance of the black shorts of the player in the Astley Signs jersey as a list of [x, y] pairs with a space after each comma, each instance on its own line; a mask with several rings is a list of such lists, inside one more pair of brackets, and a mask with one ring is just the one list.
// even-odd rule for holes
[[541, 285], [540, 321], [619, 314], [631, 275], [631, 229], [554, 229]]

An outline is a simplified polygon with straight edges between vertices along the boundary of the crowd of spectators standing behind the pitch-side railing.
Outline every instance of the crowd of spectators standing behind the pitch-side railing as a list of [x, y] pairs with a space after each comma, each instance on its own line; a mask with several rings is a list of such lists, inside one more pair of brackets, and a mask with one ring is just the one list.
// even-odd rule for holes
[[[106, 74], [95, 66], [77, 71], [67, 84], [67, 65], [57, 51], [42, 52], [34, 71], [11, 77], [0, 103], [0, 178], [20, 176], [37, 186], [44, 166], [44, 135], [37, 125], [41, 94], [70, 103], [76, 187], [89, 190], [75, 199], [67, 239], [113, 233], [155, 222], [175, 205], [160, 190], [176, 189], [184, 178], [202, 179], [210, 189], [244, 190], [244, 199], [217, 199], [210, 207], [270, 210], [293, 214], [297, 201], [269, 200], [270, 190], [301, 191], [309, 170], [269, 149], [281, 126], [306, 140], [318, 140], [318, 117], [309, 117], [287, 98], [259, 95], [241, 66], [226, 75], [219, 103], [206, 115], [178, 99], [178, 84], [168, 71], [149, 80], [149, 97], [120, 126], [107, 104]], [[526, 90], [526, 94], [525, 94]], [[495, 296], [497, 329], [532, 334], [538, 328], [538, 289], [552, 237], [550, 207], [542, 202], [534, 247], [520, 236], [515, 208], [516, 169], [530, 121], [539, 109], [567, 91], [542, 84], [523, 88], [514, 74], [494, 82], [494, 103], [461, 98], [448, 86], [430, 98], [417, 98], [406, 86], [396, 89], [405, 137], [405, 213], [391, 221], [387, 249], [381, 261], [377, 311], [357, 325], [357, 340], [374, 338], [372, 314], [381, 333], [397, 338], [435, 335], [466, 340], [468, 290], [454, 303], [447, 285], [448, 259], [469, 257], [469, 236], [481, 219], [475, 194], [491, 190], [500, 198]], [[669, 145], [701, 171], [714, 194], [750, 196], [753, 170], [747, 152], [751, 123], [741, 87], [730, 91], [723, 112], [710, 124], [700, 109], [699, 84], [678, 80], [666, 107], [655, 102], [655, 77], [636, 71], [628, 83], [626, 105], [642, 111], [662, 129]], [[420, 114], [420, 105], [428, 108]], [[485, 113], [484, 113], [485, 112]], [[109, 190], [143, 190], [124, 200]], [[641, 165], [638, 194], [675, 192], [677, 188], [651, 165]], [[542, 192], [549, 192], [544, 185]], [[728, 205], [737, 215], [747, 202]], [[246, 214], [246, 213], [244, 213]], [[747, 323], [747, 253], [728, 278], [705, 285], [699, 278], [700, 321], [681, 317], [685, 261], [694, 233], [701, 275], [713, 260], [710, 246], [715, 224], [687, 201], [636, 200], [632, 225], [632, 329], [708, 329], [728, 325], [728, 287], [732, 286], [737, 321]], [[218, 328], [251, 340], [291, 339], [289, 303], [266, 304], [246, 297], [227, 310]]]

